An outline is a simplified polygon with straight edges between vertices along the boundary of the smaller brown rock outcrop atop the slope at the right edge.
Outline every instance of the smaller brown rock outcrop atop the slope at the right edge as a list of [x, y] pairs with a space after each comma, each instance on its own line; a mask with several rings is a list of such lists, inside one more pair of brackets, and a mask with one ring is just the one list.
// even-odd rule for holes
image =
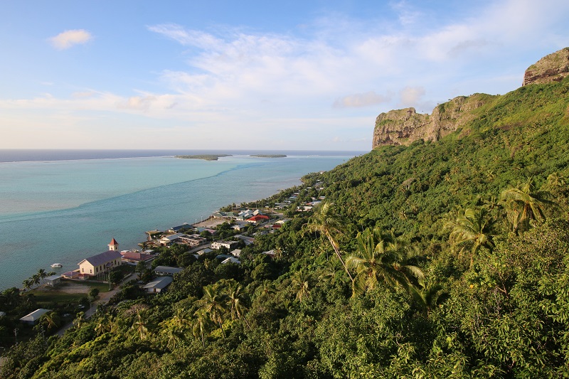
[[559, 82], [569, 75], [569, 48], [546, 55], [523, 75], [522, 87], [533, 83]]

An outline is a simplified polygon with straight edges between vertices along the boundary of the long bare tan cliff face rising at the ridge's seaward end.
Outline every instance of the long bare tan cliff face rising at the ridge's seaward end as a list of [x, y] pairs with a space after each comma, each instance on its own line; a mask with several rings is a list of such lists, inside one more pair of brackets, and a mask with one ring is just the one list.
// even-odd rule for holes
[[489, 95], [459, 96], [437, 105], [432, 113], [420, 114], [415, 108], [390, 110], [380, 114], [373, 131], [373, 148], [408, 145], [418, 139], [438, 141], [474, 118], [472, 110], [484, 105]]

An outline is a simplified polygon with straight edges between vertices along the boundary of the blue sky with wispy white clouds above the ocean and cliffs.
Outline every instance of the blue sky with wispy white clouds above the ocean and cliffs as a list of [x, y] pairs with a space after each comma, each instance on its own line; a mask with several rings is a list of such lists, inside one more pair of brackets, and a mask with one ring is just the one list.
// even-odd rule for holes
[[504, 94], [569, 1], [18, 1], [0, 149], [371, 149], [381, 112]]

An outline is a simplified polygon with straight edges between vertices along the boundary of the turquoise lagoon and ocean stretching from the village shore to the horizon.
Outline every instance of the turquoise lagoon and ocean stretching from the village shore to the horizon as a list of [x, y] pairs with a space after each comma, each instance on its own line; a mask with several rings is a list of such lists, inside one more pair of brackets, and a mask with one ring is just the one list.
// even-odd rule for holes
[[[146, 230], [195, 223], [267, 198], [363, 151], [0, 150], [0, 290], [38, 269], [138, 248]], [[182, 154], [232, 154], [218, 161]], [[287, 154], [262, 159], [250, 154]], [[54, 262], [63, 268], [52, 269]]]

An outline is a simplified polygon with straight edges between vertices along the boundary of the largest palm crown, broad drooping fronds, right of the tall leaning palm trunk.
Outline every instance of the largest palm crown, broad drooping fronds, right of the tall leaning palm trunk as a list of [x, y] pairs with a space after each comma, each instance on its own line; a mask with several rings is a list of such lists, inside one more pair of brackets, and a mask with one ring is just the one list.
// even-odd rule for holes
[[353, 295], [374, 289], [380, 282], [390, 287], [408, 288], [410, 277], [422, 279], [419, 267], [408, 265], [408, 253], [397, 242], [388, 240], [380, 228], [358, 233], [358, 251], [346, 260], [356, 269], [352, 282]]

